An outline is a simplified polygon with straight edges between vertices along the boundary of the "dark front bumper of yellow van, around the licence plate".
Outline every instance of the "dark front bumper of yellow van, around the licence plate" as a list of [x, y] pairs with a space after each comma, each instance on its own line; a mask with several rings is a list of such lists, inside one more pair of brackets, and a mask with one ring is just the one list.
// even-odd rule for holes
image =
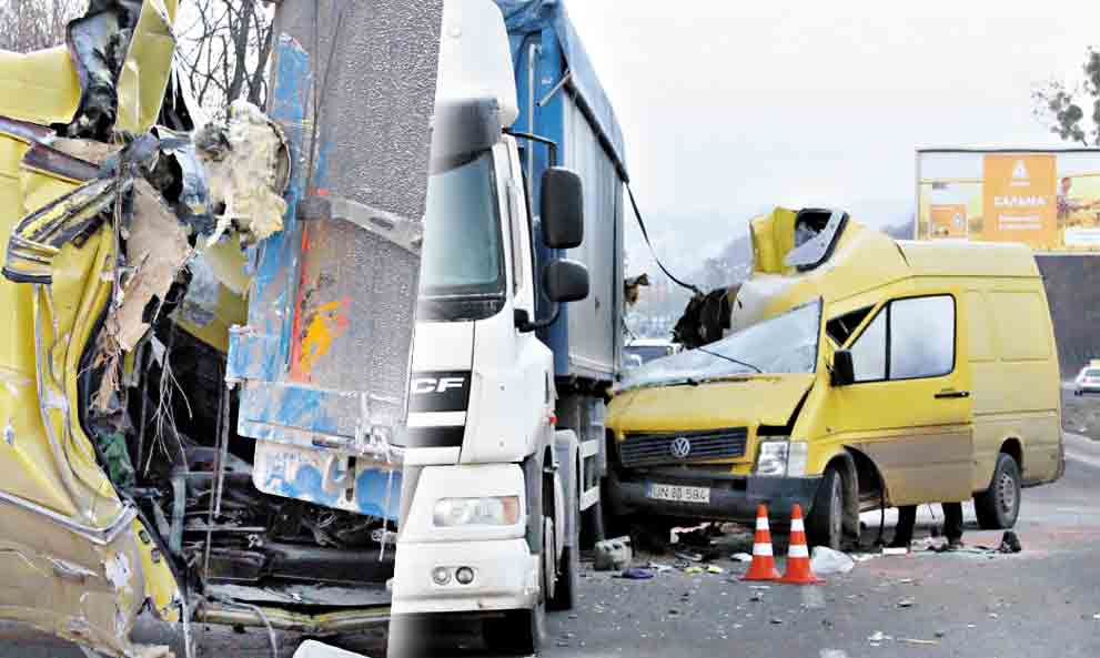
[[[629, 512], [643, 512], [660, 516], [699, 518], [707, 520], [751, 522], [758, 505], [768, 506], [768, 515], [786, 519], [798, 504], [803, 514], [809, 514], [817, 494], [820, 475], [807, 477], [663, 477], [647, 474], [645, 477], [624, 477], [617, 486], [617, 497]], [[684, 485], [708, 487], [709, 503], [682, 503], [649, 497], [650, 485]], [[616, 495], [613, 493], [612, 495]]]

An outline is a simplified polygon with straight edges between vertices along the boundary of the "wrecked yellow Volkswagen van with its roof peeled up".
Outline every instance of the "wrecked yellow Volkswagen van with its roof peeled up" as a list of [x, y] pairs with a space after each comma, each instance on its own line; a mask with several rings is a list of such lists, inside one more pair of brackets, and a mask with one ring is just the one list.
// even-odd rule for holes
[[1064, 468], [1057, 348], [1030, 251], [895, 241], [830, 210], [750, 223], [720, 341], [630, 371], [607, 415], [605, 507], [669, 520], [808, 512], [838, 547], [860, 510], [975, 499], [1011, 527]]

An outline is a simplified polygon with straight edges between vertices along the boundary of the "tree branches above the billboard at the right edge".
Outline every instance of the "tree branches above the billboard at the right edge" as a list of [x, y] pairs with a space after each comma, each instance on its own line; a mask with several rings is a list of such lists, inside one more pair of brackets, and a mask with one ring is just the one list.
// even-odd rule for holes
[[1051, 81], [1032, 92], [1035, 115], [1067, 142], [1100, 146], [1100, 50], [1090, 48], [1074, 85]]

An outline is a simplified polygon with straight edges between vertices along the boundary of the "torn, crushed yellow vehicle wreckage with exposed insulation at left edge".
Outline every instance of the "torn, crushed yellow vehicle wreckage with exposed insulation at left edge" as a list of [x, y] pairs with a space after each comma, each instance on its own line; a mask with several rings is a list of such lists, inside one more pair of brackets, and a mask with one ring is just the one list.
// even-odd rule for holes
[[[243, 250], [282, 230], [290, 156], [254, 107], [193, 124], [178, 6], [92, 0], [64, 45], [0, 51], [0, 618], [110, 656], [168, 655], [131, 641], [142, 611], [307, 632], [386, 615], [355, 589], [381, 520], [261, 494], [230, 428]], [[236, 596], [280, 573], [303, 581], [271, 595], [293, 609]]]

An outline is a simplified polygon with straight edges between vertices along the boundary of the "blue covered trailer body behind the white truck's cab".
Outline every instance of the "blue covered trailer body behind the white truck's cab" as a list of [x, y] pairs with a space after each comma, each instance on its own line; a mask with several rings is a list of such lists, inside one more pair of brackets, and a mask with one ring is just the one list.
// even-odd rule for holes
[[[623, 186], [629, 180], [623, 133], [564, 2], [496, 1], [512, 42], [519, 97], [513, 130], [553, 140], [557, 164], [584, 181], [584, 243], [566, 254], [539, 247], [536, 266], [556, 255], [577, 260], [588, 267], [592, 292], [583, 302], [564, 305], [539, 337], [554, 352], [559, 378], [610, 382], [619, 372], [623, 343]], [[525, 140], [519, 144], [537, 209], [549, 149]]]

